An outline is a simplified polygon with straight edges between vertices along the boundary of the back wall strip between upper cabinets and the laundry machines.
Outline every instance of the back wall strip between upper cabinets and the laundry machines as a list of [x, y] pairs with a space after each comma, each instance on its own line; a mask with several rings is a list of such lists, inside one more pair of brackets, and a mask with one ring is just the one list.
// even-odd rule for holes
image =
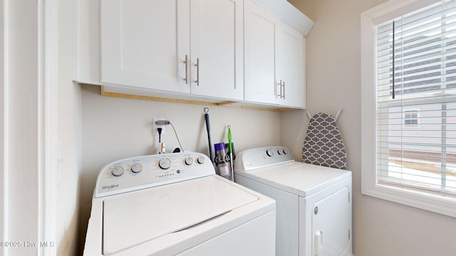
[[[204, 107], [209, 107], [212, 144], [228, 142], [227, 125], [232, 127], [237, 152], [256, 146], [279, 145], [281, 142], [280, 112], [103, 97], [100, 96], [99, 86], [83, 85], [80, 199], [83, 237], [98, 171], [110, 161], [155, 154], [152, 117], [163, 117], [174, 124], [183, 149], [209, 155]], [[170, 126], [165, 127], [162, 140], [167, 151], [178, 146]]]

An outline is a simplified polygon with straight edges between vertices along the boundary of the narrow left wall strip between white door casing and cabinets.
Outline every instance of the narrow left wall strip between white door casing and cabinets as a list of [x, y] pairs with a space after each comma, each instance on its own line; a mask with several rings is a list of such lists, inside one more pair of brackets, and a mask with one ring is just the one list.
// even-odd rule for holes
[[80, 255], [81, 87], [76, 78], [76, 0], [58, 1], [57, 255]]

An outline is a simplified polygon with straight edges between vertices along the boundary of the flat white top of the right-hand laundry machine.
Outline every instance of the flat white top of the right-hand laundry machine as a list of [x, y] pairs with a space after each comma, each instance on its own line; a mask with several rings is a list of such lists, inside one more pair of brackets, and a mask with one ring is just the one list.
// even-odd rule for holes
[[264, 167], [249, 172], [237, 171], [236, 174], [252, 178], [304, 198], [324, 188], [328, 188], [344, 178], [351, 177], [351, 171], [305, 164], [297, 161]]

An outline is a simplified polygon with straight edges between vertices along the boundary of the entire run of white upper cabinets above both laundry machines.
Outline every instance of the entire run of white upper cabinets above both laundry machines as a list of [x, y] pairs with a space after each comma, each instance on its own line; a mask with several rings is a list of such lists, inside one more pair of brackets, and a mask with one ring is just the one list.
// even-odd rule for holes
[[76, 80], [103, 95], [304, 108], [313, 25], [286, 0], [78, 0]]

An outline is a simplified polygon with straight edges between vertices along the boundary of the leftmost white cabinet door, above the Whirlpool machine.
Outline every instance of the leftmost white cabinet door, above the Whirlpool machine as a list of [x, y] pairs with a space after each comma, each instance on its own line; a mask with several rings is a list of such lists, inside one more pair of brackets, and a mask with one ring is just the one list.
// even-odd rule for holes
[[100, 0], [101, 81], [190, 92], [190, 0]]

